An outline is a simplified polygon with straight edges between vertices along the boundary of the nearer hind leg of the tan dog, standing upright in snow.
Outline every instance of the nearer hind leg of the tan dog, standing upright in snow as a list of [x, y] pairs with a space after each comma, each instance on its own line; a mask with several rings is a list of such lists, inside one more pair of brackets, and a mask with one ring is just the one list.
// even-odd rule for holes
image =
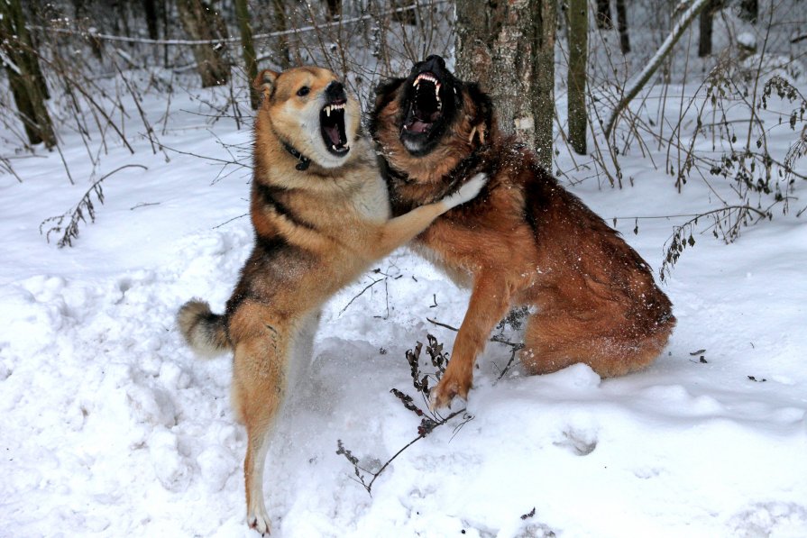
[[235, 345], [232, 397], [247, 431], [243, 461], [247, 524], [265, 534], [270, 532], [270, 521], [263, 501], [263, 469], [271, 429], [286, 393], [290, 342], [286, 327], [261, 324], [262, 331], [251, 331], [251, 337]]

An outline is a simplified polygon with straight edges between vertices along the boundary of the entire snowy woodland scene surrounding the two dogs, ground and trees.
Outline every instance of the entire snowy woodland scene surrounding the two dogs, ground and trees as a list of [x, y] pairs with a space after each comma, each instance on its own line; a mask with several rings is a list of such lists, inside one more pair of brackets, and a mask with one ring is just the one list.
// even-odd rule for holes
[[422, 435], [390, 388], [423, 406], [406, 351], [450, 356], [467, 291], [396, 252], [326, 309], [270, 452], [275, 533], [807, 535], [802, 0], [0, 0], [0, 535], [249, 535], [228, 360], [173, 327], [251, 246], [249, 81], [320, 65], [366, 111], [429, 54], [679, 324], [646, 372], [527, 378], [511, 316]]

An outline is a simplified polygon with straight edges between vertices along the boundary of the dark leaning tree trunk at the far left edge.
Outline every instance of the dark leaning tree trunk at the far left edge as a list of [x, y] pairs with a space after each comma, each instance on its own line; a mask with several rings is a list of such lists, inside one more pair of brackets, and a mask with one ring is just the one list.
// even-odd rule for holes
[[0, 47], [17, 114], [32, 144], [56, 145], [56, 135], [45, 100], [49, 97], [37, 52], [25, 27], [20, 0], [0, 0]]

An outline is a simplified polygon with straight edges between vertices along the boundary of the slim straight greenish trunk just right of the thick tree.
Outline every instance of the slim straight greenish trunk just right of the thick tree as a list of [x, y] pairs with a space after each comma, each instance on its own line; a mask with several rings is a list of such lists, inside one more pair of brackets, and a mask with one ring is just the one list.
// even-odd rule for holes
[[569, 142], [580, 155], [586, 152], [588, 117], [585, 106], [586, 60], [588, 58], [589, 14], [586, 0], [568, 0], [569, 73], [568, 113]]

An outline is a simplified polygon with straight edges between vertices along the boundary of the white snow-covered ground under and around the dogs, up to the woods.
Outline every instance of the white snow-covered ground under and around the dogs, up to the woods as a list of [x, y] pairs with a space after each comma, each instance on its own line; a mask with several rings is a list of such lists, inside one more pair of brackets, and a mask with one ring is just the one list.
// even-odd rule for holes
[[[226, 158], [211, 129], [249, 142], [232, 123], [179, 112], [198, 109], [190, 95], [174, 98], [166, 145]], [[146, 105], [155, 117], [165, 108]], [[168, 162], [143, 140], [134, 155], [112, 147], [95, 178], [148, 169], [107, 178], [96, 223], [57, 249], [39, 225], [75, 205], [92, 172], [84, 146], [63, 136], [75, 186], [43, 151], [14, 161], [23, 183], [0, 177], [0, 535], [252, 535], [230, 361], [197, 360], [174, 324], [193, 296], [221, 311], [234, 286], [252, 242], [237, 218], [248, 171], [213, 183], [219, 169], [205, 160], [169, 151]], [[657, 269], [686, 217], [638, 221], [638, 234], [629, 217], [715, 200], [697, 182], [678, 194], [635, 153], [622, 160], [635, 187], [570, 188], [620, 217]], [[509, 348], [491, 343], [472, 420], [402, 452], [369, 496], [337, 440], [377, 468], [417, 436], [390, 388], [414, 394], [405, 351], [427, 333], [450, 350], [454, 333], [426, 317], [457, 326], [468, 299], [407, 250], [379, 261], [328, 304], [280, 421], [265, 480], [274, 535], [807, 535], [807, 226], [794, 213], [728, 246], [696, 235], [664, 285], [678, 326], [646, 371], [602, 380], [578, 365], [497, 380]]]

